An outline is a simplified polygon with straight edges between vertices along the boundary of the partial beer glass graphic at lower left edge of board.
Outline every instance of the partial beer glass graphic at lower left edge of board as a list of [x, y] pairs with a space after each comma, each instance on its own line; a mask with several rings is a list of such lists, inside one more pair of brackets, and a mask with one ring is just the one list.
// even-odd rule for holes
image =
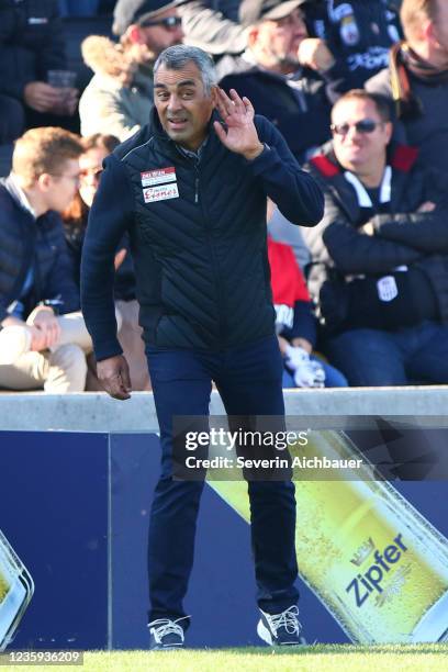
[[0, 530], [0, 651], [13, 638], [33, 593], [31, 574]]

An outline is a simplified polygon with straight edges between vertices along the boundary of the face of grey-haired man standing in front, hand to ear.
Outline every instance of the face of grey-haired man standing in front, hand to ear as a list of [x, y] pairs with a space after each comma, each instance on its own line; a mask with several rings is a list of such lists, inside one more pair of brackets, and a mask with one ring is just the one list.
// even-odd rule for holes
[[171, 139], [195, 150], [205, 139], [215, 107], [216, 89], [208, 96], [201, 72], [193, 61], [181, 70], [160, 66], [154, 79], [154, 103], [160, 123]]

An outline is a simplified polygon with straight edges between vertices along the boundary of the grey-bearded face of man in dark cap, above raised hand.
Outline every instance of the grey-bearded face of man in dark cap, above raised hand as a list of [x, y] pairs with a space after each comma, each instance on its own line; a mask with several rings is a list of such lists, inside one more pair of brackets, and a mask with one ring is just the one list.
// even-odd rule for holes
[[[277, 21], [262, 21], [251, 30], [249, 45], [264, 67], [299, 66], [299, 45], [307, 37], [303, 13], [294, 9]], [[253, 44], [250, 44], [253, 41]]]

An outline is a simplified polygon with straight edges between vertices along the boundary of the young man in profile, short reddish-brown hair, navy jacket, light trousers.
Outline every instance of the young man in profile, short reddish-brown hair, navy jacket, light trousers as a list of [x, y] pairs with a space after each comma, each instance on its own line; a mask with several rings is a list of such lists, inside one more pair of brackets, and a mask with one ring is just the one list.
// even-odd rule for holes
[[[79, 181], [79, 138], [34, 128], [0, 182], [0, 387], [81, 392], [91, 348], [61, 220]], [[59, 315], [59, 316], [57, 316]]]

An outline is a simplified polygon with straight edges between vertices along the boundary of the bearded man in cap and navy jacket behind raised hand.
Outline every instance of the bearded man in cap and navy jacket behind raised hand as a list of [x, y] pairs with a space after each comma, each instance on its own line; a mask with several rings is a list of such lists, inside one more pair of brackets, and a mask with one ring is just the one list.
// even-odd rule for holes
[[223, 58], [217, 68], [220, 86], [246, 96], [258, 114], [276, 124], [299, 161], [329, 138], [325, 82], [301, 67], [298, 57], [307, 36], [306, 2], [244, 0], [239, 18], [248, 27], [247, 49], [238, 58]]

